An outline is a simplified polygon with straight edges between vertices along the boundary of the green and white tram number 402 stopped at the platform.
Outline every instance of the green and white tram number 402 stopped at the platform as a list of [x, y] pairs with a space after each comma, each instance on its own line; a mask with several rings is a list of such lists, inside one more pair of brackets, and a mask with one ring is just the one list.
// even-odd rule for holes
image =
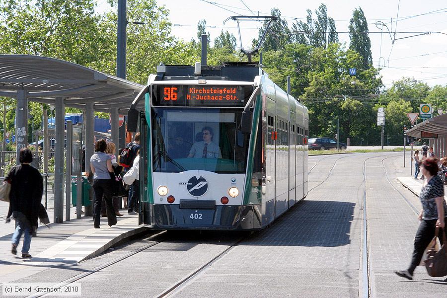
[[307, 195], [307, 108], [259, 64], [160, 65], [138, 115], [140, 224], [255, 230]]

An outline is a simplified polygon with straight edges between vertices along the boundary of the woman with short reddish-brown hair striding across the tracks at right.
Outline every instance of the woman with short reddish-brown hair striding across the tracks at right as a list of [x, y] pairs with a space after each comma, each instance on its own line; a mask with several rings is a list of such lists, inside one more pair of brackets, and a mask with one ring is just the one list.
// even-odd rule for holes
[[444, 200], [443, 182], [438, 177], [438, 159], [428, 157], [421, 162], [421, 172], [426, 177], [419, 194], [422, 210], [419, 214], [419, 229], [414, 238], [413, 257], [407, 270], [394, 271], [398, 276], [413, 279], [413, 272], [421, 262], [427, 246], [435, 236], [435, 228], [440, 227], [438, 237], [443, 243], [445, 223], [447, 221], [447, 205]]

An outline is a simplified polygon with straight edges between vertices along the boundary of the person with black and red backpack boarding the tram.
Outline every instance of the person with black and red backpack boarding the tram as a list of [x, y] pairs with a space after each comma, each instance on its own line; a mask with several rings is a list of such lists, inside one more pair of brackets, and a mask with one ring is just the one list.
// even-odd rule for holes
[[[126, 172], [134, 165], [134, 159], [140, 150], [140, 133], [136, 133], [134, 142], [127, 144], [126, 148], [121, 151], [120, 165], [124, 166]], [[137, 189], [136, 189], [137, 188]], [[127, 213], [138, 214], [138, 187], [134, 184], [129, 187], [129, 196], [127, 200]]]

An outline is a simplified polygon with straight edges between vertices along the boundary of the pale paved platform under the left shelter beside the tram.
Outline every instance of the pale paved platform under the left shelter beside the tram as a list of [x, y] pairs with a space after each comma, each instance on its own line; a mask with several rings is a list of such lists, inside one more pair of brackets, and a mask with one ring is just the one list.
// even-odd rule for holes
[[[72, 208], [74, 215], [75, 207]], [[47, 210], [50, 221], [53, 210]], [[14, 221], [0, 224], [0, 283], [19, 280], [50, 267], [70, 266], [98, 256], [114, 244], [132, 236], [145, 233], [147, 228], [138, 225], [138, 215], [117, 217], [117, 224], [111, 227], [107, 218], [101, 218], [101, 228], [93, 227], [92, 217], [74, 219], [62, 224], [50, 223], [39, 226], [37, 236], [31, 240], [31, 259], [21, 258], [23, 236], [17, 247], [17, 255], [11, 253], [11, 237]]]

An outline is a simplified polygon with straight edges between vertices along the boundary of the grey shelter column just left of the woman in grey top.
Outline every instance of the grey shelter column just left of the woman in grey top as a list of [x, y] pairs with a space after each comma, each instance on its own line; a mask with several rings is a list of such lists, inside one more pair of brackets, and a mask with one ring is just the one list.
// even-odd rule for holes
[[[91, 173], [90, 168], [90, 157], [94, 153], [94, 122], [95, 122], [95, 113], [93, 108], [93, 103], [85, 104], [85, 172], [89, 174], [88, 181], [90, 183], [93, 182], [93, 175]], [[93, 215], [93, 189], [90, 190], [89, 198], [92, 202], [90, 206], [85, 207], [85, 216]]]

